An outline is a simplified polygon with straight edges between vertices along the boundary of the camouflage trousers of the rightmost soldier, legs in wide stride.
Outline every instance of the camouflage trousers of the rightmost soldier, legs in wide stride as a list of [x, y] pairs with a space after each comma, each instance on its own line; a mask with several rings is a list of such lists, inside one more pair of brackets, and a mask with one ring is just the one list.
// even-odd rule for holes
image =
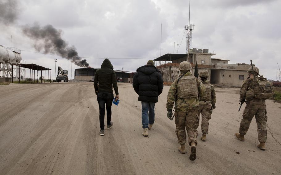
[[250, 123], [255, 116], [258, 125], [258, 141], [266, 142], [266, 104], [247, 104], [244, 112], [243, 119], [240, 123], [239, 133], [245, 135], [250, 127]]

